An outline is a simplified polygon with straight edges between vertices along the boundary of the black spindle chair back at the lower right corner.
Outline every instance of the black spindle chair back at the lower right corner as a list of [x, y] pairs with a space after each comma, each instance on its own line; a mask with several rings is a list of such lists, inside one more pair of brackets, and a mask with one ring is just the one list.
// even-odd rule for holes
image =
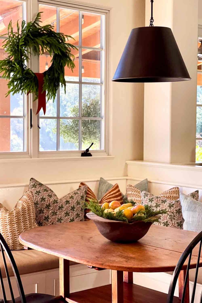
[[[199, 250], [198, 250], [198, 257], [197, 257], [197, 265], [196, 265], [196, 272], [194, 277], [194, 284], [193, 284], [193, 291], [191, 295], [191, 301], [190, 303], [194, 303], [195, 293], [196, 293], [196, 284], [197, 284], [197, 278], [198, 278], [198, 269], [199, 269], [199, 263], [200, 263], [200, 253], [201, 253], [201, 246], [202, 246], [202, 231], [191, 241], [191, 243], [187, 246], [187, 248], [182, 253], [179, 261], [177, 262], [177, 265], [175, 267], [171, 284], [168, 291], [168, 297], [167, 297], [167, 303], [173, 303], [174, 300], [174, 291], [177, 284], [177, 279], [180, 275], [180, 271], [182, 270], [182, 267], [185, 263], [185, 261], [188, 258], [187, 263], [187, 271], [185, 275], [184, 280], [184, 289], [182, 293], [181, 303], [184, 303], [185, 295], [186, 295], [186, 289], [187, 289], [187, 283], [189, 283], [189, 270], [190, 270], [190, 262], [191, 262], [191, 256], [193, 249], [199, 244]], [[202, 296], [200, 299], [200, 303], [202, 303]]]

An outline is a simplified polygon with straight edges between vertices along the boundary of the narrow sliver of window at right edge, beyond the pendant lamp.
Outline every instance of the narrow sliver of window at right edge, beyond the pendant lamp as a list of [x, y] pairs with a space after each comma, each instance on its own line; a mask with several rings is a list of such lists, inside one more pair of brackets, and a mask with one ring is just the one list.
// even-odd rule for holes
[[[198, 47], [201, 41], [202, 38], [199, 38]], [[197, 67], [196, 162], [202, 162], [202, 54], [198, 54]]]

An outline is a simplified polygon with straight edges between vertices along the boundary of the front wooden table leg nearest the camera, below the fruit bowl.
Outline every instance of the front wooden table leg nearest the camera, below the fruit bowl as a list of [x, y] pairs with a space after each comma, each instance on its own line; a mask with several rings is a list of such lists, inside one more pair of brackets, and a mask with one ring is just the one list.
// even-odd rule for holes
[[112, 286], [112, 303], [124, 302], [124, 275], [123, 271], [112, 270], [111, 286]]

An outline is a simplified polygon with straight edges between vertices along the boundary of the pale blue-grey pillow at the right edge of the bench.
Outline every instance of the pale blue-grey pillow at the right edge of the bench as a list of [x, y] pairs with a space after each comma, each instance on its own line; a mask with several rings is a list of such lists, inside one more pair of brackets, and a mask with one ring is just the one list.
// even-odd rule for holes
[[202, 203], [184, 194], [180, 194], [180, 202], [184, 218], [183, 229], [202, 231]]

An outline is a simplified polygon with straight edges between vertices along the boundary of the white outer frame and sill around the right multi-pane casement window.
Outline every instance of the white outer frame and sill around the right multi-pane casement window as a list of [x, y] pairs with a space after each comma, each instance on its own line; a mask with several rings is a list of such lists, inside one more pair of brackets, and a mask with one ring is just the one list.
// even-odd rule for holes
[[[101, 8], [96, 5], [89, 4], [78, 4], [71, 1], [65, 0], [22, 0], [26, 5], [26, 22], [34, 20], [38, 11], [39, 4], [52, 5], [55, 7], [82, 10], [84, 12], [97, 13], [105, 15], [105, 47], [104, 47], [104, 111], [101, 112], [101, 115], [104, 114], [103, 123], [104, 123], [104, 150], [92, 150], [91, 153], [93, 156], [105, 157], [109, 155], [109, 83], [110, 83], [110, 69], [109, 69], [109, 22], [110, 22], [110, 8]], [[28, 66], [33, 72], [39, 72], [39, 56], [31, 55], [31, 58], [28, 62]], [[78, 83], [78, 82], [77, 82]], [[87, 83], [89, 84], [89, 83]], [[33, 102], [32, 94], [29, 94], [27, 97], [26, 105], [24, 106], [24, 115], [26, 114], [25, 121], [26, 126], [24, 132], [26, 135], [27, 142], [27, 151], [23, 152], [0, 152], [0, 159], [12, 159], [12, 158], [71, 158], [71, 157], [81, 157], [81, 150], [79, 151], [40, 151], [39, 152], [39, 129], [38, 129], [38, 115], [35, 115], [37, 112], [37, 101]], [[30, 110], [32, 110], [32, 128], [30, 129]], [[103, 110], [103, 108], [102, 108]], [[98, 120], [95, 118], [95, 120]], [[85, 158], [82, 158], [85, 159]], [[42, 160], [42, 159], [41, 159]]]

